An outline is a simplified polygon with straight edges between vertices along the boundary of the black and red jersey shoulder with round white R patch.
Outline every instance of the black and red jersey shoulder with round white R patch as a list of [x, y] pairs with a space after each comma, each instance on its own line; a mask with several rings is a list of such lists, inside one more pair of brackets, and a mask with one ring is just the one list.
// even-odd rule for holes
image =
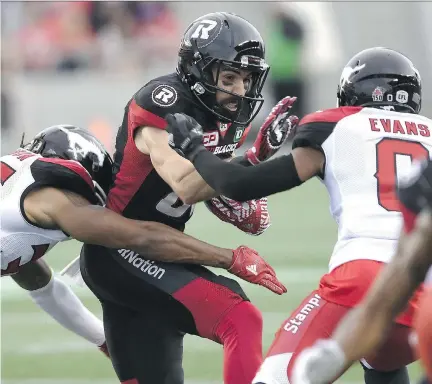
[[142, 87], [129, 104], [128, 117], [132, 128], [151, 126], [165, 129], [165, 116], [188, 113], [192, 94], [177, 74], [162, 76]]

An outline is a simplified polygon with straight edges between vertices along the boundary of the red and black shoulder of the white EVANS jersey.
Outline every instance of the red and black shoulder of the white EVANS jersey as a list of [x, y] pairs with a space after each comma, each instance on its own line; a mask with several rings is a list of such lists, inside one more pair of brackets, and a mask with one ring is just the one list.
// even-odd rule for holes
[[339, 107], [306, 115], [300, 120], [297, 127], [293, 139], [293, 148], [321, 148], [321, 145], [331, 135], [340, 120], [361, 110], [362, 107]]

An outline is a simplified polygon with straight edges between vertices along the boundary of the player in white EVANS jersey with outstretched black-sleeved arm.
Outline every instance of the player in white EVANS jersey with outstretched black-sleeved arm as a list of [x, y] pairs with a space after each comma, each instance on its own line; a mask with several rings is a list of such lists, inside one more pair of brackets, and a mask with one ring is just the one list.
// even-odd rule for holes
[[[190, 117], [171, 129], [172, 145], [224, 196], [259, 198], [315, 176], [329, 193], [339, 227], [329, 272], [282, 324], [256, 384], [291, 382], [300, 352], [329, 337], [360, 302], [396, 251], [402, 224], [398, 175], [432, 151], [432, 121], [419, 115], [420, 75], [401, 53], [376, 47], [356, 54], [343, 69], [337, 100], [337, 108], [300, 121], [289, 155], [254, 167], [224, 163], [205, 151], [201, 127]], [[362, 359], [366, 383], [408, 383], [405, 366], [415, 360], [408, 338], [419, 295], [395, 320], [378, 353]]]

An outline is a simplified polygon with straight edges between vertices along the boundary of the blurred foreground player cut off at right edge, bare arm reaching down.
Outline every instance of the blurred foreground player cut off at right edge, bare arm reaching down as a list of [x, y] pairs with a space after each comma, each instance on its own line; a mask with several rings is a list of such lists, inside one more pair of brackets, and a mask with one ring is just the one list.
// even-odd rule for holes
[[428, 375], [423, 383], [432, 383], [432, 162], [420, 164], [399, 185], [404, 227], [395, 256], [366, 298], [339, 323], [332, 338], [319, 340], [300, 354], [294, 384], [328, 383], [373, 353], [423, 281], [427, 291], [415, 316], [413, 344]]

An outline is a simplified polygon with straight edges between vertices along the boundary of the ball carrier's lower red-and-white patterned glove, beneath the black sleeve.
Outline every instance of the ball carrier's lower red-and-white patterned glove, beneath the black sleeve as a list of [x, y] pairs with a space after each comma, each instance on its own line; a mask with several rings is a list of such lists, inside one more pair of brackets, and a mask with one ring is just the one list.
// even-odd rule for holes
[[220, 220], [250, 235], [261, 235], [270, 227], [266, 197], [240, 203], [225, 196], [218, 196], [204, 203]]

